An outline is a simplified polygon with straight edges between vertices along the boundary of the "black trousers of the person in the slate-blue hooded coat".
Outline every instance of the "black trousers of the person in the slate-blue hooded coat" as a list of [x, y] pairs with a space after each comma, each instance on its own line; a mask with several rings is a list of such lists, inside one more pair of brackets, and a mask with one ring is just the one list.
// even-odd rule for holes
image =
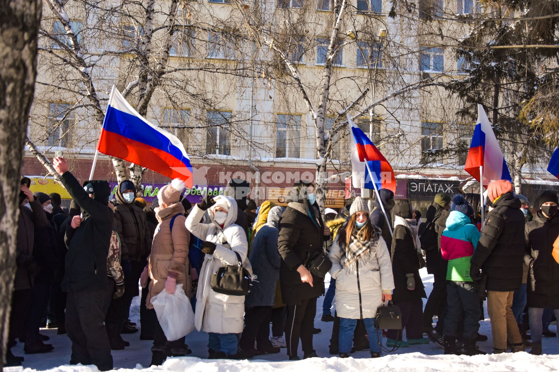
[[272, 306], [245, 308], [245, 327], [239, 342], [241, 349], [254, 349], [254, 340], [256, 340], [257, 349], [264, 349], [264, 346], [269, 346], [269, 320], [271, 314]]

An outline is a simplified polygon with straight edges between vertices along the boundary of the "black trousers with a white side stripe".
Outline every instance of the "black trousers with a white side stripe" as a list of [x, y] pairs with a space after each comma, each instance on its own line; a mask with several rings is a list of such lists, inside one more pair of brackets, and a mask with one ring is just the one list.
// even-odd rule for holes
[[286, 343], [287, 355], [297, 356], [299, 339], [303, 354], [312, 352], [312, 335], [316, 315], [316, 297], [304, 299], [301, 305], [287, 306]]

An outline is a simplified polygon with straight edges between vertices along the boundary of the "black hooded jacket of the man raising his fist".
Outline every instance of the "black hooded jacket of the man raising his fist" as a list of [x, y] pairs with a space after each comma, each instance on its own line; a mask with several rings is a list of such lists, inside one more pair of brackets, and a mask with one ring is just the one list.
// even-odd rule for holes
[[82, 224], [77, 229], [68, 225], [64, 291], [107, 288], [107, 255], [111, 244], [113, 212], [108, 207], [110, 187], [107, 181], [91, 181], [94, 197], [89, 197], [70, 172], [60, 176], [68, 194], [83, 212]]

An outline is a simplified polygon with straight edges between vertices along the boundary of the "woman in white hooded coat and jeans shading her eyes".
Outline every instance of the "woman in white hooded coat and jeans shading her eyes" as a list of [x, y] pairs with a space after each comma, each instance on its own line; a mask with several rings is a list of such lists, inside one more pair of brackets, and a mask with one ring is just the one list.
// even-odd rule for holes
[[[200, 223], [206, 210], [210, 224]], [[194, 321], [198, 331], [209, 334], [209, 359], [234, 357], [238, 348], [237, 334], [243, 332], [245, 296], [228, 296], [211, 289], [211, 277], [217, 269], [239, 263], [235, 252], [249, 269], [247, 236], [234, 224], [237, 212], [237, 203], [232, 197], [205, 196], [186, 220], [186, 228], [204, 241], [202, 252], [206, 255], [198, 279]]]

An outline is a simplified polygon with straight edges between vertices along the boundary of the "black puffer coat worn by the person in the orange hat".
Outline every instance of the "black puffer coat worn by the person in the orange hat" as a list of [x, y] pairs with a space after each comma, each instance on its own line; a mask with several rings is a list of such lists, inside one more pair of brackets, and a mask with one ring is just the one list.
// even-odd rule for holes
[[471, 275], [479, 279], [481, 268], [487, 274], [487, 291], [512, 292], [522, 285], [524, 214], [512, 192], [501, 195], [493, 205], [471, 259]]

